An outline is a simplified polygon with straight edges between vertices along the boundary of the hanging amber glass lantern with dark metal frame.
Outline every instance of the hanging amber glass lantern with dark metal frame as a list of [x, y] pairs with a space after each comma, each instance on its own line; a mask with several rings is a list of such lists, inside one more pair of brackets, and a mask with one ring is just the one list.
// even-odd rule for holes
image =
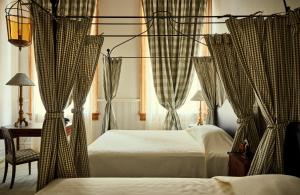
[[5, 12], [8, 41], [20, 49], [29, 46], [32, 34], [29, 3], [14, 1], [7, 5]]

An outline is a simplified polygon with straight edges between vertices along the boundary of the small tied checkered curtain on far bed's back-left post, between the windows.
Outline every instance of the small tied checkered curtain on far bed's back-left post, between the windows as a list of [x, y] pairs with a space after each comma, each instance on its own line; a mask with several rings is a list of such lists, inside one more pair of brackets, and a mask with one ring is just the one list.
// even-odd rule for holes
[[105, 112], [102, 120], [102, 133], [110, 129], [117, 129], [117, 120], [112, 107], [112, 100], [116, 97], [122, 58], [105, 57], [103, 63], [103, 86], [106, 100]]

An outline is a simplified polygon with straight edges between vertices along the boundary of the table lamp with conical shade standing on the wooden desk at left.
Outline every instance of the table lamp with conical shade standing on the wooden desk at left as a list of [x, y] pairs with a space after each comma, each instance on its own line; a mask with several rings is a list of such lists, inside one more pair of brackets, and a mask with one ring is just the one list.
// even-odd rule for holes
[[19, 86], [20, 87], [20, 93], [19, 93], [19, 118], [17, 122], [15, 122], [15, 127], [22, 126], [22, 123], [24, 122], [25, 126], [28, 126], [28, 122], [23, 117], [23, 86], [34, 86], [34, 83], [27, 77], [24, 73], [17, 73], [13, 78], [11, 78], [6, 85], [13, 85], [13, 86]]

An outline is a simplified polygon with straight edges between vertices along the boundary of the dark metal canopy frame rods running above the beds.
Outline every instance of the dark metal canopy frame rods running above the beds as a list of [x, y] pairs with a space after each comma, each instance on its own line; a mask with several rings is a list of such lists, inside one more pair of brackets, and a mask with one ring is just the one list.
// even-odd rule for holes
[[[173, 22], [178, 23], [178, 24], [188, 24], [188, 23], [179, 23], [176, 22], [174, 19], [178, 19], [178, 18], [215, 18], [215, 19], [228, 19], [228, 18], [247, 18], [247, 17], [274, 17], [274, 16], [278, 16], [281, 15], [283, 12], [281, 13], [275, 13], [275, 14], [269, 14], [269, 15], [263, 15], [261, 11], [255, 12], [253, 14], [242, 14], [242, 15], [232, 15], [232, 14], [225, 14], [225, 15], [212, 15], [212, 16], [172, 16], [172, 15], [164, 15], [164, 16], [159, 16], [159, 15], [153, 15], [153, 16], [59, 16], [57, 15], [57, 9], [58, 9], [58, 4], [59, 4], [59, 0], [50, 0], [51, 2], [51, 12], [45, 8], [43, 8], [43, 6], [39, 5], [36, 0], [30, 0], [32, 3], [38, 5], [38, 7], [40, 7], [43, 11], [47, 12], [48, 14], [50, 14], [52, 16], [52, 21], [53, 21], [53, 37], [54, 37], [54, 42], [56, 42], [56, 33], [57, 33], [57, 20], [59, 20], [60, 18], [71, 18], [71, 19], [80, 19], [80, 18], [96, 18], [96, 19], [121, 19], [121, 20], [126, 20], [126, 19], [148, 19], [147, 22], [94, 22], [92, 23], [92, 25], [147, 25], [148, 22], [153, 21], [154, 19], [166, 19], [166, 20], [173, 20]], [[286, 0], [283, 0], [283, 4], [284, 4], [284, 8], [285, 8], [285, 13], [288, 13], [291, 9], [290, 7], [287, 6]], [[153, 13], [153, 14], [157, 14], [157, 13]], [[224, 21], [205, 21], [205, 22], [197, 22], [197, 24], [225, 24]], [[116, 46], [114, 46], [112, 49], [107, 49], [107, 56], [111, 55], [111, 52], [116, 49], [117, 47], [135, 39], [136, 37], [178, 37], [178, 36], [185, 36], [187, 38], [193, 39], [194, 41], [205, 45], [204, 43], [201, 42], [201, 40], [196, 40], [194, 39], [194, 37], [202, 37], [205, 36], [206, 34], [193, 34], [193, 35], [187, 35], [187, 34], [183, 34], [179, 31], [177, 31], [175, 28], [174, 30], [178, 32], [178, 34], [172, 34], [172, 35], [147, 35], [144, 34], [146, 33], [149, 28], [151, 28], [152, 25], [149, 25], [147, 30], [137, 34], [137, 35], [132, 35], [132, 34], [103, 34], [103, 37], [129, 37], [129, 39], [117, 44]], [[192, 37], [193, 36], [193, 37]], [[55, 44], [54, 44], [55, 45]], [[56, 50], [56, 48], [54, 48]], [[102, 55], [105, 55], [102, 53]], [[105, 55], [106, 56], [106, 55]], [[193, 56], [190, 56], [193, 57]], [[161, 57], [161, 58], [190, 58], [190, 57]], [[153, 57], [145, 57], [145, 56], [137, 56], [137, 57], [133, 57], [133, 56], [127, 56], [127, 57], [122, 57], [125, 59], [135, 59], [135, 58], [153, 58]]]

